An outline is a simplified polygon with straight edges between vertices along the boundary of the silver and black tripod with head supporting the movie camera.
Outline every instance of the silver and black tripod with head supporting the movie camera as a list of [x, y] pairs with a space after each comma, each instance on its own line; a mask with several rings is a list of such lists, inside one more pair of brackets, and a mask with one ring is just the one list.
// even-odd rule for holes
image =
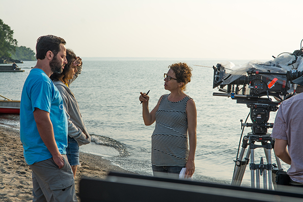
[[[269, 124], [267, 121], [269, 120], [269, 112], [278, 110], [278, 107], [277, 104], [270, 105], [255, 103], [247, 104], [247, 107], [251, 108], [251, 119], [253, 121], [253, 124], [241, 123], [241, 127], [250, 126], [252, 127], [252, 132], [247, 133], [247, 135], [243, 137], [242, 149], [239, 158], [235, 161], [235, 170], [231, 185], [241, 185], [246, 165], [249, 164], [249, 160], [251, 158], [251, 187], [260, 188], [260, 176], [263, 176], [263, 188], [267, 189], [268, 182], [268, 189], [272, 190], [272, 185], [276, 184], [272, 180], [275, 179], [273, 178], [273, 175], [276, 173], [273, 173], [273, 166], [275, 166], [275, 169], [277, 166], [271, 162], [271, 149], [274, 146], [274, 139], [270, 137], [270, 133], [267, 133], [267, 128], [272, 128], [273, 124]], [[260, 142], [261, 145], [257, 145], [256, 142]], [[243, 159], [247, 146], [249, 146], [249, 149], [247, 150], [246, 156]], [[255, 163], [255, 149], [257, 148], [264, 149], [267, 164], [264, 164], [263, 157], [260, 159], [260, 164]], [[278, 169], [282, 169], [279, 158], [276, 155], [274, 156], [276, 157]]]

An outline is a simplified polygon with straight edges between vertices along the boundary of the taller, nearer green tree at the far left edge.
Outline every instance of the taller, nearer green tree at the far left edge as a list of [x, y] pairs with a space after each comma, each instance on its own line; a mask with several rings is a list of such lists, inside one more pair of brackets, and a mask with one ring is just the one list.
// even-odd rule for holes
[[11, 27], [0, 19], [0, 58], [11, 57], [11, 52], [15, 52], [17, 40], [13, 38], [14, 31]]

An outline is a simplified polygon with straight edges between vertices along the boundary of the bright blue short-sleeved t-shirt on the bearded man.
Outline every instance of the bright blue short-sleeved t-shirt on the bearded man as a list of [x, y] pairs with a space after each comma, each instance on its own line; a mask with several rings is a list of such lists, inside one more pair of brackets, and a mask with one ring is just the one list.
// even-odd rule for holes
[[31, 70], [21, 94], [20, 139], [25, 161], [29, 165], [52, 158], [38, 132], [33, 113], [35, 108], [49, 112], [59, 152], [66, 154], [68, 127], [62, 97], [41, 69]]

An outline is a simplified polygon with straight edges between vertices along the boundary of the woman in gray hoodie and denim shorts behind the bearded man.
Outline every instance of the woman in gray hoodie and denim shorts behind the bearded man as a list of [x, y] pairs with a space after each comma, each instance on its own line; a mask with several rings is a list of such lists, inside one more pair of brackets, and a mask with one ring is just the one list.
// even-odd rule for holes
[[74, 94], [69, 89], [69, 85], [78, 77], [82, 70], [82, 61], [75, 53], [66, 50], [67, 64], [64, 66], [63, 72], [53, 73], [50, 79], [57, 86], [62, 99], [68, 120], [68, 146], [66, 148], [66, 156], [76, 176], [77, 166], [79, 162], [79, 146], [86, 145], [91, 142], [91, 137], [84, 125], [81, 117], [78, 102]]

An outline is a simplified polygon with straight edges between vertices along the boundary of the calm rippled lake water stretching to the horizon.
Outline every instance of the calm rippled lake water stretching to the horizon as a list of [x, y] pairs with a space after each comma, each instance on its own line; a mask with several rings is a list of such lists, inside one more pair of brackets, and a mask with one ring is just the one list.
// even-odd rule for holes
[[[144, 125], [139, 96], [140, 92], [150, 90], [149, 109], [152, 110], [159, 97], [169, 93], [164, 90], [163, 73], [167, 73], [169, 65], [177, 62], [185, 62], [193, 69], [185, 92], [195, 100], [198, 113], [196, 172], [193, 179], [230, 184], [241, 135], [240, 119], [245, 121], [250, 110], [231, 98], [212, 96], [218, 91], [212, 89], [213, 69], [208, 67], [222, 61], [84, 60], [82, 73], [70, 86], [93, 137], [93, 142], [81, 146], [80, 150], [101, 155], [126, 170], [152, 175], [150, 158], [154, 124]], [[248, 61], [231, 62], [242, 65]], [[23, 83], [35, 64], [18, 64], [25, 72], [1, 72], [0, 94], [19, 100]], [[276, 112], [270, 113], [270, 123], [274, 122], [275, 116]], [[251, 123], [251, 120], [248, 122]], [[11, 121], [6, 124], [18, 126], [19, 123]], [[245, 128], [244, 135], [247, 132], [251, 129]], [[255, 152], [256, 163], [261, 156], [265, 157], [262, 151]], [[283, 162], [282, 167], [284, 170], [288, 168]], [[242, 185], [250, 184], [247, 166]]]

